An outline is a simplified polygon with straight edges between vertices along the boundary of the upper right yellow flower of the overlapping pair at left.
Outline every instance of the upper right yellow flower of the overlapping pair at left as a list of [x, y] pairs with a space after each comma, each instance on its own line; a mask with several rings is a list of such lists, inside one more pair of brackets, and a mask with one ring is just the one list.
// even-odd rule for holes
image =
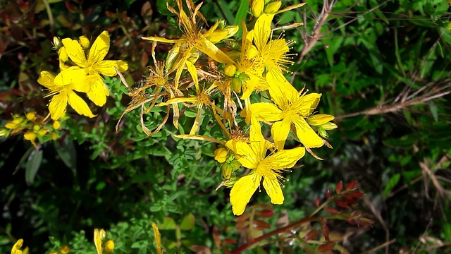
[[[87, 42], [84, 38], [80, 37], [80, 40], [84, 46], [87, 46]], [[110, 48], [110, 37], [108, 32], [101, 32], [89, 49], [87, 58], [80, 42], [70, 38], [65, 38], [61, 42], [64, 45], [68, 57], [77, 64], [78, 67], [84, 69], [87, 75], [95, 75], [97, 77], [97, 79], [91, 83], [90, 89], [87, 91], [87, 96], [92, 102], [97, 104], [97, 106], [103, 106], [106, 102], [106, 97], [109, 96], [109, 90], [99, 74], [112, 77], [117, 74], [114, 67], [118, 68], [121, 72], [127, 71], [128, 69], [128, 64], [125, 63], [125, 61], [104, 60]]]

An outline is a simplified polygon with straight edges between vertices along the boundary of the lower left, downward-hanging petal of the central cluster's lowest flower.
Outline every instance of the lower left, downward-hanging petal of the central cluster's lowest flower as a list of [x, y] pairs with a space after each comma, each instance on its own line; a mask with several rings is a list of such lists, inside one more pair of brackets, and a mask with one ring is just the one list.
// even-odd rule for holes
[[235, 215], [245, 212], [246, 205], [254, 192], [259, 188], [261, 176], [258, 174], [248, 174], [238, 180], [230, 191], [230, 204]]

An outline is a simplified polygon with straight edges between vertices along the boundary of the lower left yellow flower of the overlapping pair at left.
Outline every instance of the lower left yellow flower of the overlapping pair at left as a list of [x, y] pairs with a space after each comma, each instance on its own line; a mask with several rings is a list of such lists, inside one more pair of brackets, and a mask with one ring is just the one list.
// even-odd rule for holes
[[77, 92], [89, 92], [94, 75], [86, 75], [83, 69], [71, 67], [54, 76], [48, 71], [42, 71], [37, 82], [50, 90], [49, 111], [51, 119], [58, 120], [66, 113], [67, 104], [78, 114], [94, 117], [86, 102], [79, 97]]

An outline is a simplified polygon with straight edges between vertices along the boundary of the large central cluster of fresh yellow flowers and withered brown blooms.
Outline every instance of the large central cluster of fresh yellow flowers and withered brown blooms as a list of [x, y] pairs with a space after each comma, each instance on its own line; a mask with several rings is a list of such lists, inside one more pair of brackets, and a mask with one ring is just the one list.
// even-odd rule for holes
[[[249, 23], [242, 21], [237, 26], [218, 20], [206, 30], [200, 24], [206, 23], [199, 11], [202, 4], [195, 6], [192, 0], [186, 0], [185, 12], [182, 0], [176, 3], [178, 9], [168, 6], [168, 10], [178, 17], [183, 34], [179, 38], [142, 38], [152, 42], [154, 66], [140, 87], [128, 87], [132, 99], [124, 114], [140, 108], [142, 129], [152, 135], [169, 119], [170, 109], [173, 125], [179, 128], [180, 116], [186, 109], [194, 108], [190, 133], [175, 137], [218, 144], [215, 159], [221, 163], [221, 184], [232, 188], [233, 213], [244, 212], [261, 181], [271, 202], [282, 204], [283, 170], [294, 167], [306, 150], [314, 155], [311, 148], [330, 147], [323, 138], [328, 136], [326, 131], [337, 127], [330, 122], [333, 116], [316, 114], [321, 94], [298, 91], [285, 78], [284, 73], [292, 64], [293, 42], [273, 36], [274, 16], [304, 4], [279, 10], [279, 0], [253, 0]], [[296, 25], [302, 24], [291, 27]], [[234, 36], [240, 29], [239, 42]], [[165, 61], [156, 61], [157, 43], [173, 44]], [[157, 128], [150, 130], [143, 116], [154, 107], [166, 107], [161, 110], [166, 111], [166, 116]], [[210, 117], [202, 119], [205, 114]], [[199, 128], [205, 121], [221, 128], [222, 133], [212, 136]], [[271, 126], [268, 139], [262, 132], [266, 126]], [[285, 149], [290, 133], [299, 146]], [[248, 169], [247, 174], [237, 176], [235, 171], [241, 167]]]

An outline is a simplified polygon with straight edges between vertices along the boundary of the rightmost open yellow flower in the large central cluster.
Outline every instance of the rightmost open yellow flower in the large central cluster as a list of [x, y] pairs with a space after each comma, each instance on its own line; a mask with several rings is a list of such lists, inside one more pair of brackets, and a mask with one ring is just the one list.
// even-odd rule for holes
[[[250, 111], [252, 116], [258, 121], [276, 122], [271, 127], [271, 135], [278, 149], [283, 149], [292, 123], [296, 127], [297, 138], [305, 147], [321, 147], [324, 145], [323, 140], [306, 121], [318, 106], [321, 94], [311, 93], [305, 95], [305, 93], [302, 93], [293, 98], [292, 95], [288, 96], [288, 92], [283, 92], [283, 90], [274, 91], [271, 88], [271, 98], [276, 104], [268, 102], [254, 103], [250, 106]], [[323, 119], [331, 120], [333, 116], [326, 115]]]

